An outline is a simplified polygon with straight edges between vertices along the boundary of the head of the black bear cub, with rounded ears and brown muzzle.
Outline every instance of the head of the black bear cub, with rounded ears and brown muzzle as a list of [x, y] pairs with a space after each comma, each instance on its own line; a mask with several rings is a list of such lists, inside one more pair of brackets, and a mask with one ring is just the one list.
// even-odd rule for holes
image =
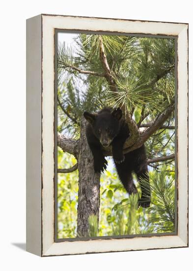
[[92, 127], [94, 135], [100, 140], [104, 148], [109, 147], [110, 143], [120, 131], [120, 119], [122, 110], [116, 108], [113, 111], [109, 108], [102, 109], [97, 114], [88, 112], [83, 113], [84, 118]]

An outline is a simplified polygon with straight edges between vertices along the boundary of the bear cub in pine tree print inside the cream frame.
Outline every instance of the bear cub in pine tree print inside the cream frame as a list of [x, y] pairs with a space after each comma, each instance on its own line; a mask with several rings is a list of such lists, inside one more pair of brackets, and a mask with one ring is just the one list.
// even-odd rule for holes
[[56, 239], [176, 233], [174, 37], [55, 38]]

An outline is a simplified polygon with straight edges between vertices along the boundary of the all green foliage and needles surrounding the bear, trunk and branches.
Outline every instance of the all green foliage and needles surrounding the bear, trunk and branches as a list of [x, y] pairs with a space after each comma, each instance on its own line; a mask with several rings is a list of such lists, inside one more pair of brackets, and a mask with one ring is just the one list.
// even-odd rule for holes
[[[77, 34], [73, 45], [58, 43], [58, 132], [78, 139], [83, 111], [125, 104], [142, 132], [174, 102], [175, 44], [170, 38], [102, 35], [107, 61], [117, 85], [112, 93], [100, 60], [96, 34]], [[75, 46], [76, 45], [76, 46]], [[88, 71], [84, 73], [83, 71]], [[92, 71], [94, 74], [90, 74]], [[116, 101], [116, 102], [115, 102]], [[148, 159], [175, 153], [174, 115], [145, 143]], [[167, 129], [166, 127], [171, 127]], [[173, 232], [175, 224], [175, 163], [149, 164], [152, 190], [149, 208], [138, 208], [137, 196], [128, 197], [111, 158], [101, 175], [99, 229], [90, 217], [90, 236]], [[77, 163], [58, 147], [58, 168]], [[134, 176], [140, 194], [140, 188]], [[78, 170], [58, 173], [58, 238], [76, 237]]]

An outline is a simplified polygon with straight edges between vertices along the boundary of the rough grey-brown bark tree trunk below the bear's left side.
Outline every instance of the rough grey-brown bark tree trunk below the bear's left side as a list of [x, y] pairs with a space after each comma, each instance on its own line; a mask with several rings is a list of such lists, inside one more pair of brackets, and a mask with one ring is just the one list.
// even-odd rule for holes
[[96, 215], [99, 221], [100, 173], [94, 172], [93, 155], [86, 139], [86, 120], [82, 119], [78, 158], [79, 195], [77, 236], [88, 237], [88, 217]]

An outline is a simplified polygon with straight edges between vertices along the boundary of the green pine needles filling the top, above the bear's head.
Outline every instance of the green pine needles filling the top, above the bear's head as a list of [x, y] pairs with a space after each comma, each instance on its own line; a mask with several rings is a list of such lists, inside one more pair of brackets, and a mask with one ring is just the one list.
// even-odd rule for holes
[[[167, 103], [173, 102], [174, 39], [102, 35], [102, 40], [116, 93], [112, 93], [105, 77], [72, 68], [104, 73], [98, 35], [77, 35], [76, 52], [65, 43], [58, 47], [58, 96], [78, 127], [84, 110], [96, 112], [104, 105], [125, 104], [126, 110], [141, 108], [154, 118]], [[60, 126], [60, 131], [64, 127], [74, 129], [70, 118]]]

